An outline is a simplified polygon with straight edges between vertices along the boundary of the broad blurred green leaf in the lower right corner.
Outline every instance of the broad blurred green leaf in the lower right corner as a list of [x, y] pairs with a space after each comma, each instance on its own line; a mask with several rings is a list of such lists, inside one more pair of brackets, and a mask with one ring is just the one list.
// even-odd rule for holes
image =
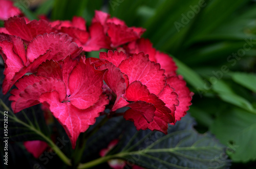
[[210, 131], [227, 145], [227, 154], [235, 162], [256, 159], [256, 115], [240, 108], [225, 111], [212, 123]]

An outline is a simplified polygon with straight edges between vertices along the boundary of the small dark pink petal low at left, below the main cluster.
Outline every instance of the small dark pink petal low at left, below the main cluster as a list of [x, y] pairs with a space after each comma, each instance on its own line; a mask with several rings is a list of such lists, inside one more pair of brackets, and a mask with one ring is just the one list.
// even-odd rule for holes
[[23, 143], [28, 152], [30, 152], [35, 158], [39, 158], [39, 156], [44, 153], [47, 149], [48, 145], [46, 142], [41, 140], [32, 140]]

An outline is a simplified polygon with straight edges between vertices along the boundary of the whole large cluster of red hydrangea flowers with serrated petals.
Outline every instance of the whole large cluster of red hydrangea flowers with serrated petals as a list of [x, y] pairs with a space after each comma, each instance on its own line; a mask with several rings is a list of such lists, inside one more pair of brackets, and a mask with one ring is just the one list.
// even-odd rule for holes
[[[3, 18], [6, 19], [6, 18]], [[82, 17], [72, 21], [10, 17], [0, 29], [5, 62], [3, 93], [11, 90], [13, 111], [41, 103], [65, 128], [73, 148], [106, 106], [138, 130], [167, 133], [168, 124], [185, 116], [192, 92], [176, 74], [168, 54], [141, 38], [141, 27], [96, 11], [87, 28]], [[81, 53], [100, 49], [99, 58]], [[29, 75], [28, 75], [29, 74]]]

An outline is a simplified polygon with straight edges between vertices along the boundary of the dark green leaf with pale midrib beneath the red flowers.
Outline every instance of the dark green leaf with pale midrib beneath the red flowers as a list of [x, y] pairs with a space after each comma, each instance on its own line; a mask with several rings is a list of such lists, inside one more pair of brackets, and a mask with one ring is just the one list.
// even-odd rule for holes
[[106, 157], [112, 155], [145, 168], [226, 168], [225, 147], [211, 134], [199, 134], [194, 124], [186, 115], [169, 126], [167, 135], [137, 131], [132, 124]]

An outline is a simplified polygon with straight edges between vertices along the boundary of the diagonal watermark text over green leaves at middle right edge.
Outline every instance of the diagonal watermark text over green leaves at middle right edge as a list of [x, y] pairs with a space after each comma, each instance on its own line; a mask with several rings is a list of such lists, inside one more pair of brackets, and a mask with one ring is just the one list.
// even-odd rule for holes
[[[256, 40], [253, 41], [252, 38], [244, 39], [245, 43], [243, 45], [243, 48], [238, 49], [236, 53], [232, 53], [227, 57], [227, 62], [231, 64], [231, 66], [234, 66], [237, 64], [238, 61], [240, 61], [244, 55], [246, 54], [246, 51], [251, 50], [253, 46], [256, 45]], [[209, 78], [209, 82], [204, 79], [204, 90], [201, 90], [200, 88], [197, 88], [198, 94], [200, 98], [203, 97], [203, 94], [207, 93], [213, 85], [216, 85], [218, 83], [218, 80], [220, 80], [225, 73], [229, 72], [229, 68], [227, 65], [222, 65], [221, 69], [218, 71], [212, 71], [212, 76]]]

